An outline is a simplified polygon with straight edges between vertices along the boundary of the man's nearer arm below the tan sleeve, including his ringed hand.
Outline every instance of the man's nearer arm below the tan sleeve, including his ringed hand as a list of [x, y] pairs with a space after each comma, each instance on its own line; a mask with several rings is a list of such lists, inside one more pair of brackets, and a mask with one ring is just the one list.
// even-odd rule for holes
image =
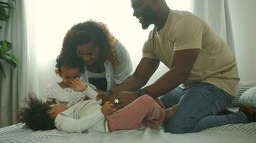
[[[147, 94], [153, 98], [157, 98], [185, 82], [191, 73], [199, 51], [200, 49], [175, 51], [173, 55], [173, 68], [160, 77], [154, 84], [145, 87]], [[135, 82], [136, 80], [134, 80], [134, 84]], [[137, 99], [137, 97], [139, 97], [137, 92], [118, 92], [114, 94], [114, 97], [111, 97], [110, 101], [119, 99], [119, 104], [116, 105], [116, 108], [120, 109], [134, 101], [134, 99]]]

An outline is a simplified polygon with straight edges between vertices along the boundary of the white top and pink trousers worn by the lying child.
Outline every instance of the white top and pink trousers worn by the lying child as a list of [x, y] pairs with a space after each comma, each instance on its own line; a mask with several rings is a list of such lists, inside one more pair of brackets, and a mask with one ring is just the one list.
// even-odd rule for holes
[[148, 95], [143, 95], [126, 107], [104, 117], [101, 106], [90, 99], [78, 102], [55, 118], [55, 127], [65, 132], [114, 132], [124, 129], [150, 127], [162, 124], [165, 112], [161, 105]]

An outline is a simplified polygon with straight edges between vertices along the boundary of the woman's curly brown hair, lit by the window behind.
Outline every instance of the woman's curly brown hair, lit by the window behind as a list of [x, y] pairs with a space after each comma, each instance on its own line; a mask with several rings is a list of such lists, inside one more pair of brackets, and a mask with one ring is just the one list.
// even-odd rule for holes
[[101, 58], [111, 61], [114, 67], [119, 64], [115, 44], [117, 39], [109, 32], [106, 24], [88, 20], [74, 25], [63, 40], [61, 52], [67, 54], [76, 53], [76, 46], [92, 42], [93, 46], [99, 46]]

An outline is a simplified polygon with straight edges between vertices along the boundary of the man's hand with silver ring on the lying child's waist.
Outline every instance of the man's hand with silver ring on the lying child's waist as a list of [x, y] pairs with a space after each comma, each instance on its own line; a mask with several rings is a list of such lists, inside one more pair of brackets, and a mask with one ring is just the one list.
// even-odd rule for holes
[[117, 94], [114, 94], [109, 99], [109, 102], [114, 103], [115, 99], [119, 100], [119, 103], [114, 104], [117, 109], [121, 109], [127, 104], [130, 104], [135, 99], [137, 99], [139, 96], [135, 92], [118, 92]]

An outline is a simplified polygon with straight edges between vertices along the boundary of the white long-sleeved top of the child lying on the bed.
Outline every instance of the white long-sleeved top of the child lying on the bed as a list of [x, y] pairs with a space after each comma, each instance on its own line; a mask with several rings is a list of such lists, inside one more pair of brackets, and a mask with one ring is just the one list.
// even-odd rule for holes
[[55, 127], [65, 132], [109, 132], [101, 106], [93, 99], [78, 102], [58, 114]]

